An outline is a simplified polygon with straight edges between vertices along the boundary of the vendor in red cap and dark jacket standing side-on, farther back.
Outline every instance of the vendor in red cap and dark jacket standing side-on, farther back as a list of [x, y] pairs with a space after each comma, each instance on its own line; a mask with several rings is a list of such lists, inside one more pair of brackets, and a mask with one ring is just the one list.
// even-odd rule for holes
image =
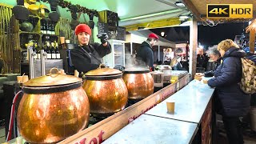
[[142, 42], [142, 45], [138, 48], [136, 54], [136, 60], [138, 65], [149, 66], [151, 70], [154, 70], [154, 57], [152, 46], [154, 46], [158, 42], [157, 34], [149, 34], [148, 38], [145, 42]]

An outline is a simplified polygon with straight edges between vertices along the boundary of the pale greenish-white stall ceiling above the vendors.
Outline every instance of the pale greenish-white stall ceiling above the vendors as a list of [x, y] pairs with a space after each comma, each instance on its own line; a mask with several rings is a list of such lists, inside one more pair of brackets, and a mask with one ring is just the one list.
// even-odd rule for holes
[[152, 22], [165, 18], [178, 18], [181, 14], [190, 13], [186, 7], [176, 6], [178, 0], [67, 0], [72, 4], [85, 6], [98, 11], [110, 10], [118, 13], [119, 26], [127, 26], [142, 22]]

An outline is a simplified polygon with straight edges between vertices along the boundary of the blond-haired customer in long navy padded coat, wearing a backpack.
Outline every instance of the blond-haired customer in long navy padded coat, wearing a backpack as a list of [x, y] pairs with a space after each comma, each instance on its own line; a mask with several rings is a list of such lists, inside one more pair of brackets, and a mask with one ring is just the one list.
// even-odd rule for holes
[[214, 71], [214, 78], [207, 83], [216, 87], [214, 106], [217, 113], [222, 114], [230, 144], [241, 144], [243, 138], [239, 117], [245, 116], [250, 110], [250, 94], [243, 93], [238, 85], [242, 78], [241, 58], [245, 53], [230, 39], [220, 42], [218, 50], [223, 62]]

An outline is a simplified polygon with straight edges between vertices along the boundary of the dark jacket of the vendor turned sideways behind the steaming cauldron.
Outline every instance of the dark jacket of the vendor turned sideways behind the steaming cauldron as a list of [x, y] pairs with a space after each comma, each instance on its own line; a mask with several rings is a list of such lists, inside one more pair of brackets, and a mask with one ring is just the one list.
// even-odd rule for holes
[[142, 45], [137, 50], [136, 59], [139, 65], [142, 65], [142, 63], [139, 62], [142, 61], [145, 62], [146, 66], [150, 66], [152, 70], [154, 70], [153, 50], [148, 42], [142, 42]]

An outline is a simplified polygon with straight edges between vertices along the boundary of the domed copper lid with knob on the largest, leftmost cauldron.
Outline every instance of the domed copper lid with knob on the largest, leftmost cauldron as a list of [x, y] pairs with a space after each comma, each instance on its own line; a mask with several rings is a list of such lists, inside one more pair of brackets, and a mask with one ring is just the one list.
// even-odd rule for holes
[[82, 82], [82, 78], [77, 78], [73, 75], [59, 74], [58, 69], [50, 70], [50, 74], [38, 78], [32, 78], [25, 82], [23, 86], [27, 87], [48, 87], [48, 86], [63, 86]]

